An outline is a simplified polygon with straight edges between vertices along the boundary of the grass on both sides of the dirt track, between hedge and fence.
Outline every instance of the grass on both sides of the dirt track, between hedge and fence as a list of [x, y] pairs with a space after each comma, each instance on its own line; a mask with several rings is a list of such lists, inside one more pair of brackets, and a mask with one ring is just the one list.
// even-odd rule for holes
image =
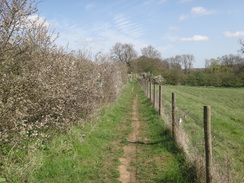
[[[134, 92], [132, 92], [134, 88]], [[80, 183], [119, 182], [119, 158], [132, 131], [132, 105], [138, 94], [140, 139], [132, 161], [140, 182], [197, 182], [163, 121], [135, 82], [128, 84], [117, 102], [96, 120], [52, 132], [52, 139], [34, 152], [13, 149], [0, 182]], [[31, 144], [29, 144], [29, 147]]]

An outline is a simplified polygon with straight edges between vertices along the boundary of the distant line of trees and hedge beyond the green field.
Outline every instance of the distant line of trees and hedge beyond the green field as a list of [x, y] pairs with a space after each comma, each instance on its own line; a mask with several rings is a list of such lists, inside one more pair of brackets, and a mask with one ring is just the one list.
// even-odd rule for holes
[[131, 63], [131, 71], [161, 75], [166, 84], [191, 86], [244, 86], [244, 58], [241, 55], [224, 55], [205, 61], [205, 68], [193, 69], [194, 56], [177, 55], [160, 59], [141, 56]]

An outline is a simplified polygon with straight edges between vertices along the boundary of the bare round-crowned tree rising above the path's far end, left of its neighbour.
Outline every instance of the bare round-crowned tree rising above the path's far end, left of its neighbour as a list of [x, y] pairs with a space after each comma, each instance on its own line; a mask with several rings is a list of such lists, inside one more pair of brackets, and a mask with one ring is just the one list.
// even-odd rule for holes
[[136, 59], [137, 53], [133, 48], [132, 44], [122, 44], [116, 43], [111, 49], [111, 55], [113, 59], [118, 60], [127, 65], [129, 71], [131, 68], [131, 62], [133, 59]]

